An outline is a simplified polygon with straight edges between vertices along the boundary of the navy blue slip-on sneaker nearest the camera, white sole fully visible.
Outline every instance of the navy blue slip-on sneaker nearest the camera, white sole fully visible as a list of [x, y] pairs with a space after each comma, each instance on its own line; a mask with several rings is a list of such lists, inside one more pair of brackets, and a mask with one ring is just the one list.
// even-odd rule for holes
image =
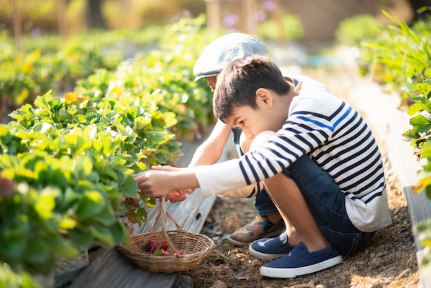
[[320, 251], [308, 252], [306, 245], [299, 243], [288, 255], [260, 267], [260, 275], [295, 278], [322, 271], [341, 262], [343, 258], [332, 245]]

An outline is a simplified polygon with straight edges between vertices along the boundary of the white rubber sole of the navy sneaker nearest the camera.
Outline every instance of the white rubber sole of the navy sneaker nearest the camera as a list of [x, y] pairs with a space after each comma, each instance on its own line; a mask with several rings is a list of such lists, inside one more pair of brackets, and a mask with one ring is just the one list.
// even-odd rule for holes
[[333, 267], [339, 263], [343, 262], [342, 256], [337, 256], [324, 260], [321, 263], [316, 263], [306, 267], [298, 268], [270, 268], [270, 267], [260, 267], [260, 275], [271, 277], [271, 278], [295, 278], [297, 276], [303, 276], [307, 274], [313, 274], [324, 269]]

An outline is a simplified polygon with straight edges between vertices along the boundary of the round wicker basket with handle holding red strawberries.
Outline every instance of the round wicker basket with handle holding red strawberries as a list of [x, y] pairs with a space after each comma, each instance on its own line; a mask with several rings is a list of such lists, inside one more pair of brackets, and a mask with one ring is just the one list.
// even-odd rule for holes
[[[162, 231], [154, 231], [156, 223], [162, 216]], [[178, 230], [166, 230], [166, 220], [172, 220]], [[158, 256], [145, 249], [149, 240], [166, 240], [167, 251], [171, 256]], [[136, 265], [152, 272], [171, 273], [191, 269], [200, 264], [202, 259], [211, 253], [214, 242], [211, 238], [184, 230], [167, 212], [165, 198], [160, 197], [158, 214], [151, 232], [130, 236], [129, 245], [120, 243], [118, 250]], [[178, 255], [182, 251], [182, 255]], [[176, 256], [174, 256], [176, 253]]]

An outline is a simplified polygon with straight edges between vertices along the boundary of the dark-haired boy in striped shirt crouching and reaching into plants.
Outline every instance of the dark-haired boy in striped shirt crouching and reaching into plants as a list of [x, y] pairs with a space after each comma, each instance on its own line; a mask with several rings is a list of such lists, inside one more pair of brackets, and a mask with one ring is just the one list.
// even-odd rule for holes
[[[391, 224], [381, 155], [364, 119], [324, 86], [304, 78], [294, 89], [266, 56], [233, 61], [215, 87], [215, 116], [251, 140], [238, 159], [136, 175], [140, 191], [165, 196], [200, 187], [222, 194], [262, 181], [286, 224], [249, 251], [273, 260], [262, 276], [293, 278], [342, 262]], [[276, 260], [274, 260], [276, 259]]]

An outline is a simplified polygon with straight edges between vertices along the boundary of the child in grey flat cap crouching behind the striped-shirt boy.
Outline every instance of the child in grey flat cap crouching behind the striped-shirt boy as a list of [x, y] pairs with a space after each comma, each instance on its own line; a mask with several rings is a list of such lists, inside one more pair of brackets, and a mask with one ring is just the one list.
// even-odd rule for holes
[[[193, 73], [196, 75], [195, 81], [206, 78], [209, 87], [214, 89], [217, 76], [225, 65], [242, 56], [252, 54], [266, 55], [268, 50], [262, 41], [249, 34], [231, 33], [215, 39], [204, 49], [193, 67]], [[232, 129], [230, 125], [218, 121], [206, 141], [196, 150], [189, 167], [210, 165], [217, 162], [231, 134], [233, 134], [233, 142], [237, 147], [238, 154], [242, 155], [241, 130]], [[246, 138], [242, 137], [241, 139], [247, 142]], [[260, 186], [251, 187], [245, 191], [247, 196], [255, 197], [254, 205], [257, 216], [251, 223], [240, 227], [227, 238], [234, 245], [249, 245], [254, 240], [279, 235], [284, 229], [284, 221], [277, 212], [277, 207], [263, 189], [263, 185], [262, 189], [260, 188]]]

